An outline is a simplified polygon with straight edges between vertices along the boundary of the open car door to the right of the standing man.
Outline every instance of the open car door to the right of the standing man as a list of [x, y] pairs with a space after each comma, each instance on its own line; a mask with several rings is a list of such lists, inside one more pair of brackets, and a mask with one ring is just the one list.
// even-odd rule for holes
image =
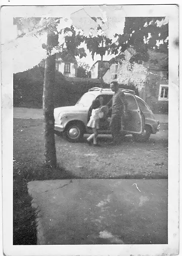
[[126, 95], [128, 110], [131, 114], [128, 120], [123, 120], [122, 131], [134, 134], [141, 134], [144, 129], [144, 114], [138, 106], [137, 100], [134, 95]]

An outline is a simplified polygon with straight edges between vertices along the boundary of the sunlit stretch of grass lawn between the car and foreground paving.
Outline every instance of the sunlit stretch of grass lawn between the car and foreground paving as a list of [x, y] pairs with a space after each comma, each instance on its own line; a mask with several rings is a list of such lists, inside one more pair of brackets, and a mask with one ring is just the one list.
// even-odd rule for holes
[[[70, 143], [55, 136], [57, 163], [62, 170], [45, 172], [42, 120], [14, 120], [14, 160], [26, 166], [35, 180], [61, 178], [167, 178], [168, 142], [159, 138], [147, 143], [126, 138], [108, 146], [107, 136], [99, 138], [101, 147]], [[41, 167], [41, 169], [40, 169]]]

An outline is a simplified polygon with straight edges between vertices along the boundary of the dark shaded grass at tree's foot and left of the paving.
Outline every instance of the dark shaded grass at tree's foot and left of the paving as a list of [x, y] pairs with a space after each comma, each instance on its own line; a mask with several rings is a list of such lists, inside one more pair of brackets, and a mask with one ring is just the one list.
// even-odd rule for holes
[[13, 244], [37, 244], [36, 209], [32, 208], [32, 197], [27, 183], [32, 180], [55, 180], [78, 178], [60, 166], [56, 168], [36, 163], [14, 164], [13, 175]]

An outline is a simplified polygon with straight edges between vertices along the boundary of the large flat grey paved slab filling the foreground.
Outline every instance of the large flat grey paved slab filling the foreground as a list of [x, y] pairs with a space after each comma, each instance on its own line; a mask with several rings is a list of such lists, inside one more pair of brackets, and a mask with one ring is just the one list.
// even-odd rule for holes
[[167, 180], [28, 183], [38, 244], [167, 244]]

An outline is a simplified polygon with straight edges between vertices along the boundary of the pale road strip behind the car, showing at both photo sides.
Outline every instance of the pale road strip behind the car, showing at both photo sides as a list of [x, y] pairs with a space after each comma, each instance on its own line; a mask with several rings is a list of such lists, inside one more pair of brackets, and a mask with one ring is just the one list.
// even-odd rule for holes
[[[36, 108], [13, 108], [14, 118], [43, 119], [43, 110]], [[168, 124], [168, 115], [154, 114], [161, 124]]]

